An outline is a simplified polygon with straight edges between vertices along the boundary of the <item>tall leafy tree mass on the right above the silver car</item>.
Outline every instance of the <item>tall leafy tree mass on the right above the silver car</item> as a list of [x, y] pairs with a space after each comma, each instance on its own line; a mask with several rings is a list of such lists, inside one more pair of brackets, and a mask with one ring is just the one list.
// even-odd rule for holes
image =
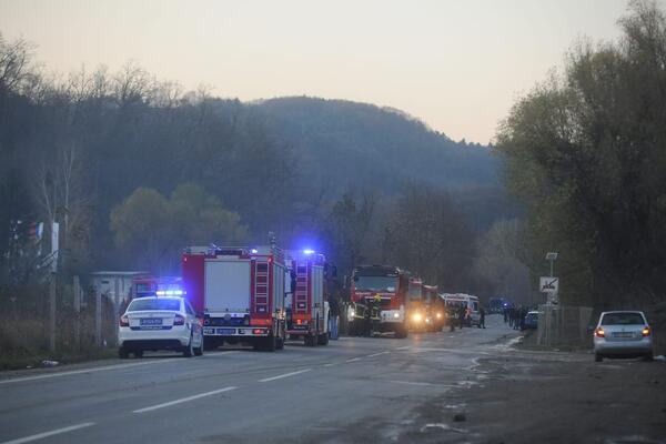
[[534, 256], [561, 252], [563, 296], [596, 305], [666, 285], [666, 19], [634, 1], [618, 23], [617, 43], [577, 44], [497, 135]]

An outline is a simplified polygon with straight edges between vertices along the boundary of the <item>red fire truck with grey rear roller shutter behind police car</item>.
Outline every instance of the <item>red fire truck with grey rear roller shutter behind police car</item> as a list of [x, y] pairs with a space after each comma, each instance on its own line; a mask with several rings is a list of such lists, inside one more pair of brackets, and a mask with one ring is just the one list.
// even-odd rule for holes
[[282, 250], [191, 246], [183, 253], [182, 273], [186, 297], [203, 317], [206, 349], [225, 342], [283, 349], [289, 274]]

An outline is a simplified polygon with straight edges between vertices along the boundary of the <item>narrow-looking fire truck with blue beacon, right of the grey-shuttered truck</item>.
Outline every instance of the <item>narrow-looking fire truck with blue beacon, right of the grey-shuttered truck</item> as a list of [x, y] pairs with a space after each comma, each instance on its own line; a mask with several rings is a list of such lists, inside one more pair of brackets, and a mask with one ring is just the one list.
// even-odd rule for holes
[[286, 252], [291, 292], [285, 299], [286, 334], [305, 345], [329, 343], [329, 282], [334, 268], [313, 250]]

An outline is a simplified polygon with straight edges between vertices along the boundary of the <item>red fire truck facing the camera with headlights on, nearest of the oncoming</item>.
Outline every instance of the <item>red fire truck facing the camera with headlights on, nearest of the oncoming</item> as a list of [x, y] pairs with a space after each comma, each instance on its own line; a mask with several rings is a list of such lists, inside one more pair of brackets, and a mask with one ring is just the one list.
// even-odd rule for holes
[[410, 273], [396, 266], [356, 266], [350, 283], [350, 335], [393, 332], [406, 337], [408, 282]]

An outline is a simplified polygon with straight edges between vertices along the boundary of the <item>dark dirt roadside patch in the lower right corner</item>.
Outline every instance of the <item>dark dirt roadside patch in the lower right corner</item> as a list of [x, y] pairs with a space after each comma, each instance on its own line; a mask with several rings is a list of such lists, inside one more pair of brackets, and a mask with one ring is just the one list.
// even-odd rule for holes
[[[521, 353], [480, 360], [480, 385], [424, 405], [401, 436], [418, 442], [666, 443], [666, 364], [594, 363], [592, 355]], [[465, 422], [455, 422], [464, 415]]]

